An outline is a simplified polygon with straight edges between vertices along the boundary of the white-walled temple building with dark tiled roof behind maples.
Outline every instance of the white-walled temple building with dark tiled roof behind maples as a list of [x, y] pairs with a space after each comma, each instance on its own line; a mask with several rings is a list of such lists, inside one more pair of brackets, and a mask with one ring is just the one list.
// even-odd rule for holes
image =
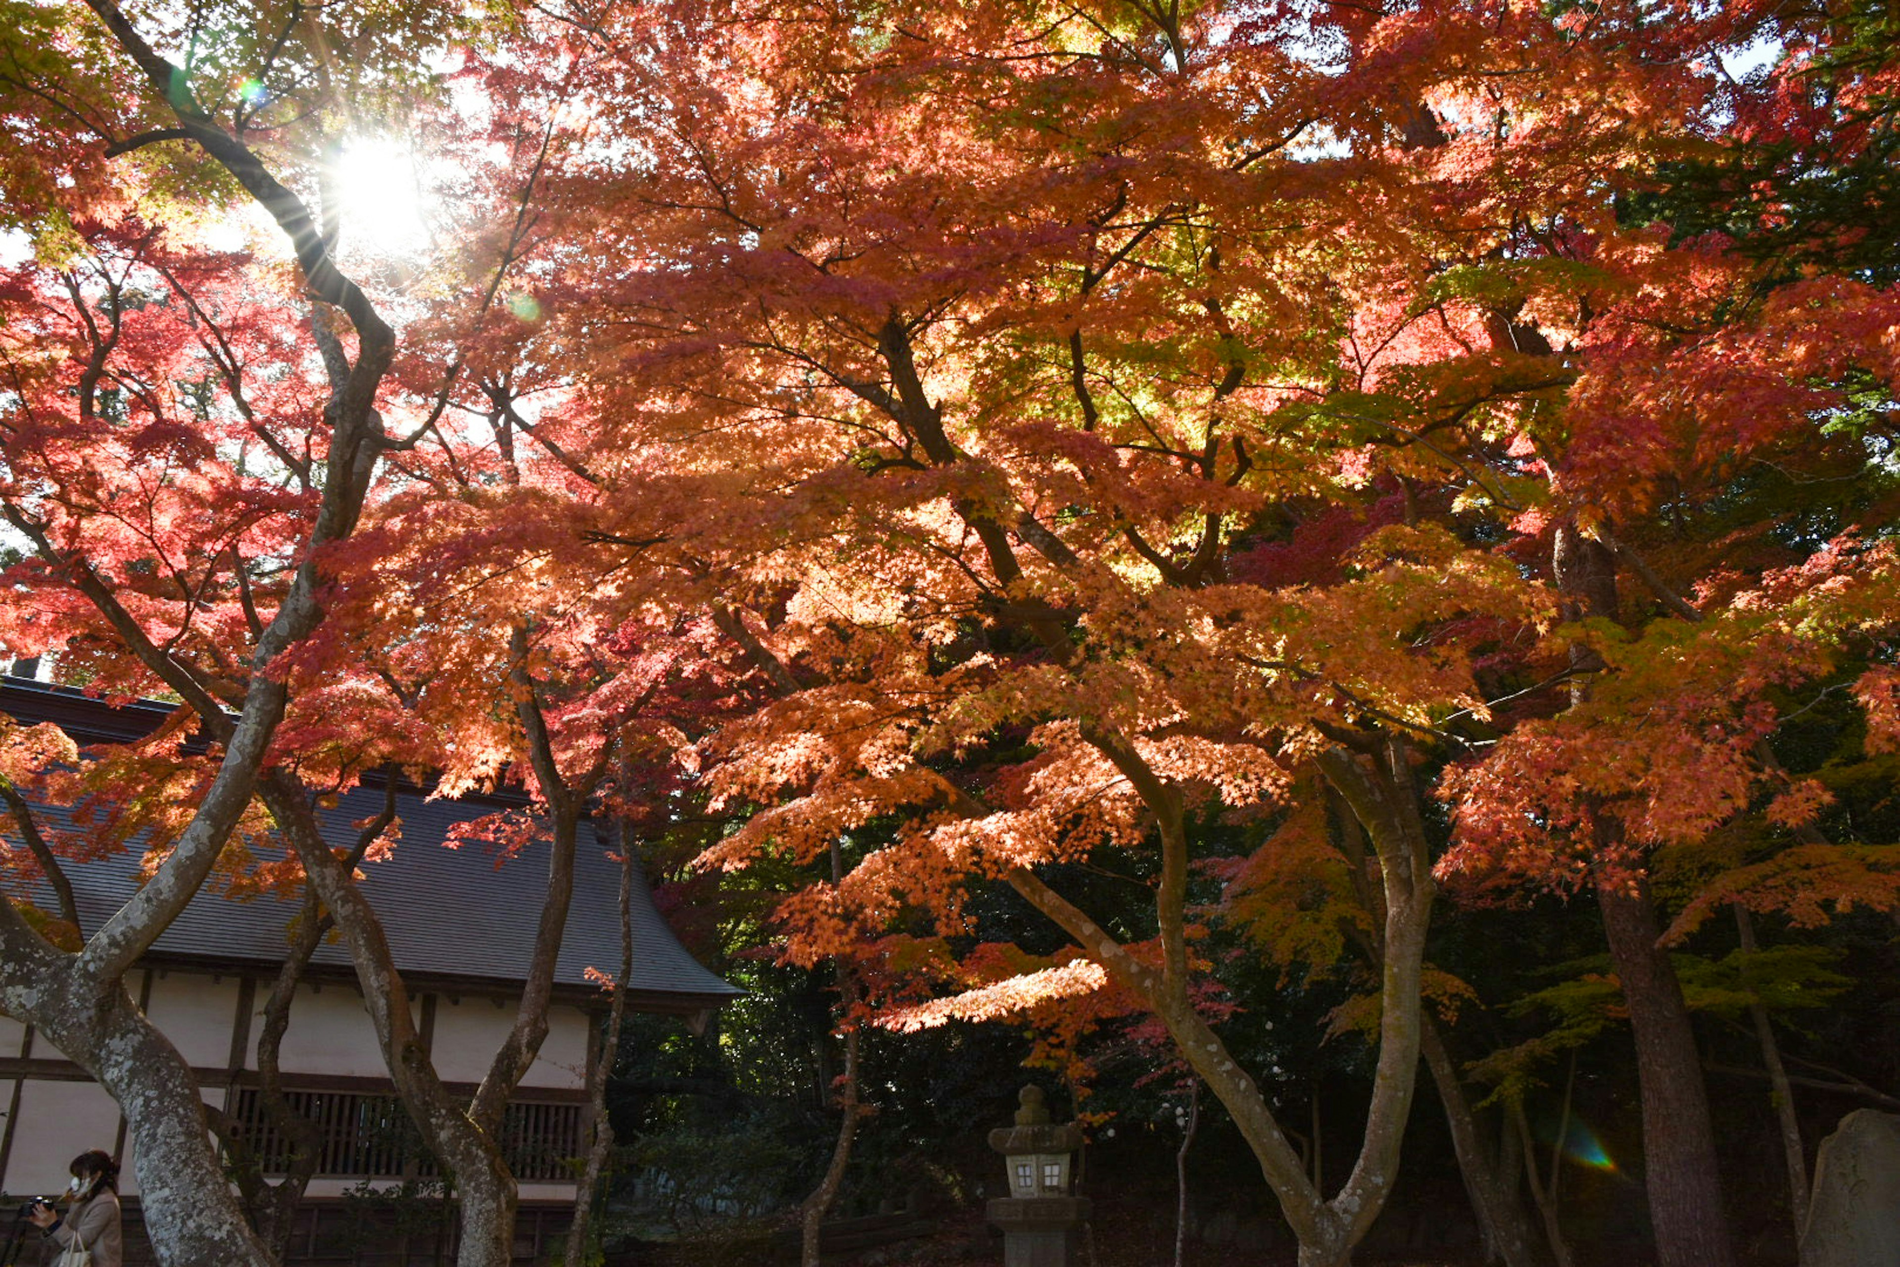
[[[70, 688], [17, 674], [0, 678], [0, 709], [23, 724], [57, 722], [80, 745], [135, 739], [169, 712], [154, 703], [108, 707]], [[346, 845], [355, 838], [350, 824], [374, 817], [382, 802], [384, 786], [359, 786], [323, 811], [325, 828]], [[388, 859], [361, 864], [363, 891], [382, 916], [435, 1068], [446, 1083], [469, 1092], [515, 1020], [542, 910], [545, 855], [530, 849], [498, 866], [483, 847], [456, 849], [443, 842], [458, 823], [519, 804], [500, 798], [431, 802], [420, 788], [401, 786], [401, 843]], [[57, 809], [48, 809], [46, 821], [63, 826]], [[133, 893], [139, 857], [127, 851], [65, 870], [82, 927], [91, 931]], [[205, 1102], [245, 1134], [268, 1172], [274, 1149], [281, 1157], [283, 1144], [258, 1104], [256, 1033], [300, 902], [238, 900], [215, 889], [213, 879], [158, 938], [127, 976], [127, 988], [196, 1069]], [[521, 1180], [517, 1254], [522, 1261], [540, 1261], [543, 1244], [560, 1233], [572, 1212], [572, 1159], [583, 1147], [585, 1087], [608, 1003], [587, 971], [619, 967], [618, 895], [619, 864], [583, 826], [547, 1041], [513, 1098], [505, 1126], [505, 1147]], [[644, 879], [635, 885], [633, 935], [629, 1011], [703, 1026], [714, 1009], [741, 993], [680, 946], [654, 908]], [[352, 1206], [346, 1195], [405, 1180], [426, 1182], [433, 1172], [414, 1147], [355, 971], [334, 938], [317, 948], [298, 988], [279, 1064], [291, 1102], [323, 1136], [321, 1164], [308, 1187], [298, 1244], [287, 1267], [401, 1263], [410, 1252], [416, 1261], [433, 1261], [445, 1244], [416, 1242], [391, 1258], [352, 1242], [363, 1202]], [[0, 1193], [55, 1193], [66, 1185], [66, 1163], [74, 1155], [103, 1147], [124, 1166], [127, 1235], [139, 1242], [129, 1244], [129, 1256], [144, 1250], [137, 1235], [137, 1159], [127, 1155], [118, 1104], [30, 1026], [8, 1016], [0, 1016]], [[416, 1240], [412, 1233], [408, 1239]]]

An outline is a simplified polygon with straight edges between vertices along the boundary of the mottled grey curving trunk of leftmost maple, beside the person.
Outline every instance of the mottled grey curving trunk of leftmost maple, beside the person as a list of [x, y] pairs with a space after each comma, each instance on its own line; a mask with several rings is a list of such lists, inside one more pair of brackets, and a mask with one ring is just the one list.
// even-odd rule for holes
[[[224, 748], [217, 775], [158, 874], [104, 921], [78, 955], [53, 952], [0, 895], [0, 1011], [34, 1024], [118, 1100], [137, 1153], [146, 1231], [163, 1267], [268, 1267], [272, 1256], [245, 1223], [218, 1164], [201, 1088], [179, 1050], [125, 993], [124, 974], [194, 898], [232, 826], [251, 805], [285, 709], [285, 684], [274, 672], [274, 661], [317, 627], [315, 560], [325, 545], [352, 534], [376, 469], [382, 420], [374, 401], [395, 351], [395, 336], [355, 283], [336, 270], [329, 245], [310, 228], [308, 207], [241, 141], [205, 118], [190, 93], [175, 91], [182, 70], [167, 63], [116, 4], [89, 0], [89, 8], [139, 66], [148, 103], [169, 106], [182, 133], [277, 220], [317, 300], [319, 325], [329, 306], [338, 306], [350, 317], [357, 348], [353, 365], [336, 357], [331, 367], [332, 399], [321, 414], [329, 424], [329, 454], [317, 479], [321, 500], [304, 541], [285, 551], [298, 558], [291, 585], [270, 623], [256, 631], [251, 652], [230, 648], [226, 663], [243, 665], [251, 674], [236, 722], [226, 714], [226, 705], [236, 699], [215, 697], [215, 688], [177, 659], [173, 648], [158, 648], [89, 560], [55, 547], [42, 524], [21, 517], [13, 503], [0, 503], [0, 517], [70, 577], [72, 587], [118, 633], [124, 650], [177, 691], [198, 714], [207, 737]], [[89, 410], [89, 405], [82, 401], [82, 408]], [[314, 429], [315, 424], [317, 412], [312, 410]], [[49, 876], [53, 872], [57, 866]], [[55, 891], [63, 887], [59, 878], [49, 883]], [[61, 893], [70, 914], [68, 897]]]

